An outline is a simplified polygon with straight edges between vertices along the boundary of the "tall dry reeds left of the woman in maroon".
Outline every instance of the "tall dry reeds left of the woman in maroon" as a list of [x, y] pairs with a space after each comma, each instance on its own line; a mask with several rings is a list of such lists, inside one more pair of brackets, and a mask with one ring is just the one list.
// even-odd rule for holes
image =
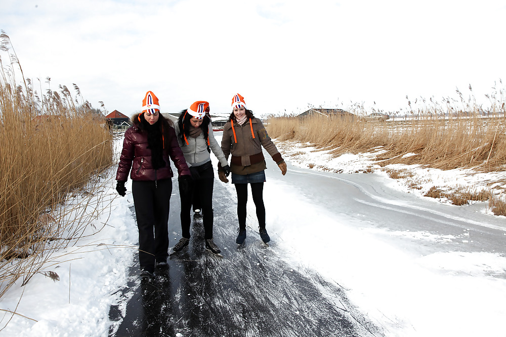
[[[0, 51], [9, 58], [7, 65], [0, 58], [1, 298], [20, 277], [22, 285], [35, 273], [58, 278], [41, 268], [49, 252], [82, 235], [95, 217], [90, 214], [103, 206], [103, 200], [92, 202], [97, 186], [90, 178], [112, 164], [113, 149], [105, 120], [90, 113], [75, 84], [75, 97], [61, 85], [37, 92], [4, 31], [0, 38]], [[62, 208], [71, 191], [82, 196], [80, 203]]]

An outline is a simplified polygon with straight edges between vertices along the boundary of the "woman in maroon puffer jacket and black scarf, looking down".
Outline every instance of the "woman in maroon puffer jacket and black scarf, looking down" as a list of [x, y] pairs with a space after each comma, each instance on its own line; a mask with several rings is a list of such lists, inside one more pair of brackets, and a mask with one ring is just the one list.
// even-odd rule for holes
[[142, 113], [133, 117], [134, 125], [125, 131], [116, 190], [125, 196], [125, 182], [130, 173], [139, 229], [139, 262], [144, 278], [152, 276], [155, 265], [167, 264], [167, 222], [174, 176], [169, 158], [178, 170], [182, 188], [188, 188], [191, 175], [176, 132], [160, 114], [155, 94], [148, 91], [142, 103]]

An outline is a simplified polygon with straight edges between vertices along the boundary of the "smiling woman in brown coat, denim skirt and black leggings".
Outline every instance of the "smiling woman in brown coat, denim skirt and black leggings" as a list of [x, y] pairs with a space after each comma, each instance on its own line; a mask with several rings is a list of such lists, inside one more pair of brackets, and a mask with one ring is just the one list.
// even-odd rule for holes
[[[251, 185], [251, 195], [257, 210], [259, 233], [262, 241], [270, 241], [269, 234], [265, 229], [265, 206], [263, 189], [265, 182], [264, 170], [267, 168], [262, 147], [279, 166], [281, 173], [286, 174], [286, 163], [276, 149], [271, 138], [262, 124], [262, 121], [253, 116], [251, 110], [247, 110], [244, 98], [235, 94], [232, 99], [232, 114], [230, 121], [223, 128], [222, 151], [230, 159], [230, 171], [232, 183], [237, 192], [237, 217], [239, 228], [236, 243], [241, 245], [246, 239], [246, 203], [248, 198], [247, 184]], [[228, 182], [224, 170], [218, 164], [220, 180]]]

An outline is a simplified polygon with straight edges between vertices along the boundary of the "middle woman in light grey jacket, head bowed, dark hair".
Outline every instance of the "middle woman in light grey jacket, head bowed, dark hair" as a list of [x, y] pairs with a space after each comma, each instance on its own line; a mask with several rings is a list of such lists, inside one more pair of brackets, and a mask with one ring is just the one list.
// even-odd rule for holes
[[202, 222], [204, 225], [205, 249], [219, 254], [221, 251], [213, 240], [213, 184], [214, 171], [211, 164], [210, 151], [220, 161], [225, 172], [230, 173], [225, 155], [221, 146], [213, 135], [213, 127], [210, 118], [205, 111], [209, 109], [209, 103], [198, 101], [190, 108], [183, 110], [175, 125], [178, 142], [185, 156], [186, 163], [192, 175], [191, 188], [180, 190], [181, 196], [181, 229], [182, 238], [174, 246], [173, 250], [179, 252], [190, 242], [190, 211], [193, 196], [195, 195], [202, 208]]

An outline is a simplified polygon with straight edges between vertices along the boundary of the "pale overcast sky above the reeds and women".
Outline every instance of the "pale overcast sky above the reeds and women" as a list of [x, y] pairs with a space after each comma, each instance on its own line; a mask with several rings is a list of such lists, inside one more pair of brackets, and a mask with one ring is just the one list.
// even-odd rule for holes
[[[76, 83], [95, 108], [162, 112], [235, 93], [257, 115], [308, 105], [385, 111], [506, 80], [503, 1], [1, 0], [25, 77]], [[5, 64], [5, 59], [3, 59]], [[43, 89], [47, 84], [44, 82]], [[375, 104], [375, 106], [374, 106]]]

